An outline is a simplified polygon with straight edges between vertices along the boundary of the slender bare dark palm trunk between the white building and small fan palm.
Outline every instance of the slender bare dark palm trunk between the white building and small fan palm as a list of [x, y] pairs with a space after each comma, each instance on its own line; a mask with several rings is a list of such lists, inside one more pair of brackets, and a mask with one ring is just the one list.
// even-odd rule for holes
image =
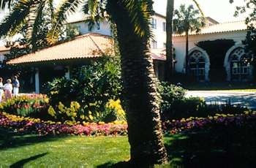
[[173, 9], [174, 0], [167, 0], [165, 80], [169, 82], [173, 75]]

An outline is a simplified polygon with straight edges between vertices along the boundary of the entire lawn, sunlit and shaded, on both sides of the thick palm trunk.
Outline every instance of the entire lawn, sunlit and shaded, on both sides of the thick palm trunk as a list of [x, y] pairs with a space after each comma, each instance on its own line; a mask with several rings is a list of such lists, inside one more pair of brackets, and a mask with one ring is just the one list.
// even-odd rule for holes
[[[166, 135], [167, 167], [255, 167], [255, 142], [255, 127]], [[0, 129], [0, 153], [0, 167], [113, 167], [129, 160], [129, 143], [127, 137], [38, 137]]]

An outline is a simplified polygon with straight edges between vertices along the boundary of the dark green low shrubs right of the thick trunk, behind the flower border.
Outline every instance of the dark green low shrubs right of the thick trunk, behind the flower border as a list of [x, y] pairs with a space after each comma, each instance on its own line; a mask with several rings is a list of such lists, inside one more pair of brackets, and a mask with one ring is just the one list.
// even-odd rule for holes
[[189, 118], [207, 117], [208, 115], [241, 114], [246, 110], [244, 107], [235, 107], [230, 102], [225, 104], [206, 104], [203, 98], [185, 97], [186, 90], [176, 85], [161, 83], [159, 93], [162, 96], [161, 115], [163, 121]]

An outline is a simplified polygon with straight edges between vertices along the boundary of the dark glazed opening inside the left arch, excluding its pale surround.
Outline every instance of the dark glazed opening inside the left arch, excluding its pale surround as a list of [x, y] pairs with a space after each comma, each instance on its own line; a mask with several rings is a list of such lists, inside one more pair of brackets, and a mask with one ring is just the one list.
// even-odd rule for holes
[[189, 75], [195, 77], [197, 81], [206, 80], [206, 58], [199, 50], [189, 54]]

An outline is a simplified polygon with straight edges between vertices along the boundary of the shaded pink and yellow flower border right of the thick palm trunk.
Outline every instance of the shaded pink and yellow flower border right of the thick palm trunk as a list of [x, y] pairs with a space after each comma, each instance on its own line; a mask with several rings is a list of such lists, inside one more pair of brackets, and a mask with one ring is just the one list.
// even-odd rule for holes
[[216, 114], [208, 118], [182, 118], [181, 120], [166, 121], [163, 123], [163, 129], [167, 134], [177, 134], [181, 131], [195, 129], [209, 129], [214, 126], [244, 126], [249, 123], [251, 126], [256, 125], [256, 112], [244, 112], [240, 115], [223, 115]]

